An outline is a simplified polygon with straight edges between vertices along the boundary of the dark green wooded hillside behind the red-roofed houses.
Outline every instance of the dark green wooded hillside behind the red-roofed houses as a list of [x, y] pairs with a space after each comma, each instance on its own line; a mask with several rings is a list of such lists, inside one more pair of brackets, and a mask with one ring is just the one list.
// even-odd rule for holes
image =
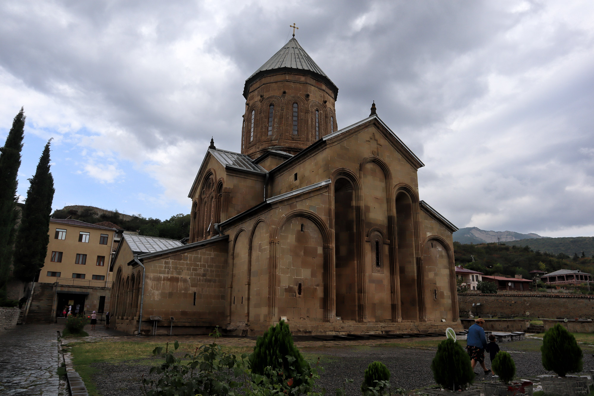
[[513, 241], [498, 245], [497, 243], [463, 244], [454, 242], [456, 265], [462, 264], [465, 268], [480, 271], [486, 275], [522, 275], [523, 278], [530, 278], [529, 272], [535, 269], [546, 272], [562, 268], [580, 269], [589, 274], [594, 273], [592, 257], [570, 257], [564, 253], [555, 255], [539, 252], [528, 246], [518, 246], [516, 243], [517, 241]]

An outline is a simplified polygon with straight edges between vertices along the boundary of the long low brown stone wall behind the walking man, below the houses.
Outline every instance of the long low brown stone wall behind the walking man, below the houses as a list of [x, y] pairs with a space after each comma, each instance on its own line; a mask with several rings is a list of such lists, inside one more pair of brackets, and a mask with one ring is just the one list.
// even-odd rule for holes
[[[458, 294], [460, 311], [478, 316], [526, 316], [536, 318], [594, 318], [594, 296], [550, 294]], [[473, 307], [473, 303], [481, 303]]]

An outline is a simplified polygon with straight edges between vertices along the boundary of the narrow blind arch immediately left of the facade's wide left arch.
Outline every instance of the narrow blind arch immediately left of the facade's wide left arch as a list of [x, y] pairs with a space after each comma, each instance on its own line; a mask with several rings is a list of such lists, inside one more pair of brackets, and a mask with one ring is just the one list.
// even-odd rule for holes
[[[266, 320], [268, 300], [268, 263], [270, 261], [270, 226], [258, 218], [249, 234], [248, 249], [248, 320]], [[252, 276], [253, 275], [253, 276]]]

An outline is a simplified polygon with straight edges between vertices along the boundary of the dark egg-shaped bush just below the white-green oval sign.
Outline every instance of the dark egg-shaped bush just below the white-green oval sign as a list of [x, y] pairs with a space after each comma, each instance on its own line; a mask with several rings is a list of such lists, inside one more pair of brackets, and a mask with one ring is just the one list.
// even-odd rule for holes
[[431, 371], [437, 384], [450, 391], [466, 389], [472, 384], [475, 373], [470, 366], [470, 356], [454, 340], [441, 341], [431, 362]]

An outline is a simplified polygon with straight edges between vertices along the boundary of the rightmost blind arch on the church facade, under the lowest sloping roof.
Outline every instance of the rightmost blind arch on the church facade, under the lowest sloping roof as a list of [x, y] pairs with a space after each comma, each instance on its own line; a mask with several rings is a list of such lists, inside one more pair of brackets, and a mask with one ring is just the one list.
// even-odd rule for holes
[[427, 237], [423, 243], [422, 265], [428, 319], [435, 322], [458, 320], [456, 264], [450, 244], [438, 235]]

